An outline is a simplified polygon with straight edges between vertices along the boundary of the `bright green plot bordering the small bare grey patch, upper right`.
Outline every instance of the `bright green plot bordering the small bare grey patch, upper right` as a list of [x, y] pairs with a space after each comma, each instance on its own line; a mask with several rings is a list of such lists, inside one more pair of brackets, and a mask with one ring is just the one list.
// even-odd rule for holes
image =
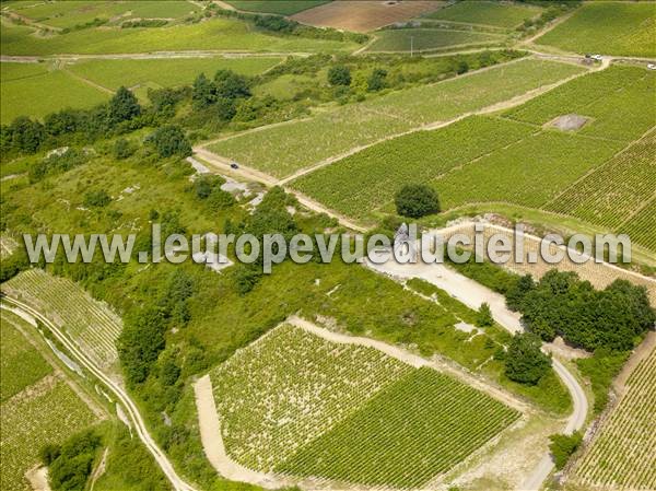
[[645, 104], [655, 91], [655, 72], [612, 66], [561, 85], [504, 117], [542, 126], [558, 116], [577, 114], [590, 118], [578, 133], [630, 142], [656, 124], [656, 107]]

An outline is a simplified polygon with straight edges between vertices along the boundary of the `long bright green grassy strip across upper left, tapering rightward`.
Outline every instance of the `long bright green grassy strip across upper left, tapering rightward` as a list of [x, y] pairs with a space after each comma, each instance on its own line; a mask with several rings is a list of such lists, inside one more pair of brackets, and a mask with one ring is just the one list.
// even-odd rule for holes
[[2, 20], [3, 55], [120, 54], [167, 50], [321, 51], [354, 50], [354, 43], [273, 36], [233, 19], [212, 19], [189, 25], [159, 28], [98, 27], [56, 34], [32, 35], [30, 27]]

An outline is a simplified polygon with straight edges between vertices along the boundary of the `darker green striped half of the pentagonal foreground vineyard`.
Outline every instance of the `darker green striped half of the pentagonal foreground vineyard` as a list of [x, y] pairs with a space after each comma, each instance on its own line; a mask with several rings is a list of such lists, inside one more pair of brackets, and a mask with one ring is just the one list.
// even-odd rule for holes
[[452, 469], [518, 417], [454, 378], [419, 369], [380, 390], [278, 470], [417, 488]]

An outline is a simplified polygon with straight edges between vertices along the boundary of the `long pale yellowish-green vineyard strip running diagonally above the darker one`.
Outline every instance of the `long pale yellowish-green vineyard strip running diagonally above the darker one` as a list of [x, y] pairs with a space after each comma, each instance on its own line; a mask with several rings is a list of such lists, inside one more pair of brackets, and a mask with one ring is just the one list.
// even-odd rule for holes
[[[519, 60], [480, 73], [393, 92], [361, 104], [320, 113], [309, 119], [236, 136], [209, 149], [244, 165], [283, 177], [355, 147], [425, 124], [452, 119], [581, 70], [552, 61]], [[308, 141], [313, 142], [309, 148]]]

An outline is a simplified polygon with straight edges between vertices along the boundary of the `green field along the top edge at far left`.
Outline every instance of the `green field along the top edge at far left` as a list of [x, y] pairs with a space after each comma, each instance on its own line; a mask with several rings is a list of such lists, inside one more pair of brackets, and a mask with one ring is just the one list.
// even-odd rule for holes
[[52, 27], [66, 28], [92, 22], [127, 19], [177, 19], [200, 10], [186, 0], [150, 1], [56, 1], [47, 3], [22, 2], [9, 9], [33, 21]]

